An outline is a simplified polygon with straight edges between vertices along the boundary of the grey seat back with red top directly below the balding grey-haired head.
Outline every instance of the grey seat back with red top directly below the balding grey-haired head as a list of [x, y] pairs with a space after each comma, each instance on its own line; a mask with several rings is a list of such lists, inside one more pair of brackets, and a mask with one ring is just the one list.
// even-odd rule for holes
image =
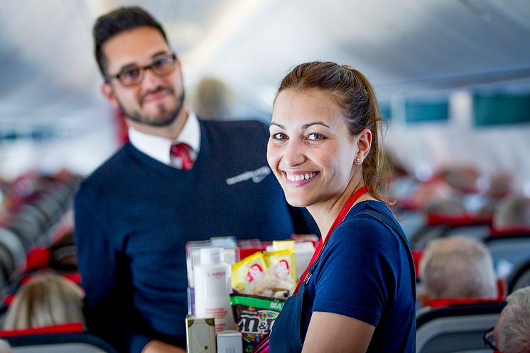
[[493, 327], [504, 308], [499, 299], [440, 300], [441, 306], [416, 313], [416, 353], [491, 352], [484, 332]]

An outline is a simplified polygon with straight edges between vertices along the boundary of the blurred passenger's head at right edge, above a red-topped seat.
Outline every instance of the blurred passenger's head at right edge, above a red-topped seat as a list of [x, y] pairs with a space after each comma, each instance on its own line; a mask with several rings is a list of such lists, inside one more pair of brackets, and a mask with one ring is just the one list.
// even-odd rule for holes
[[514, 195], [504, 198], [493, 213], [493, 227], [530, 228], [530, 198]]

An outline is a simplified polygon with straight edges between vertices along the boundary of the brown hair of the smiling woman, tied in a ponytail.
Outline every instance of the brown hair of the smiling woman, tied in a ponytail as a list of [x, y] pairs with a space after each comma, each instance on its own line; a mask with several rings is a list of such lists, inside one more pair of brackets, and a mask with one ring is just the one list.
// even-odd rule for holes
[[326, 92], [342, 109], [352, 136], [363, 129], [372, 131], [372, 148], [362, 163], [362, 178], [374, 197], [386, 201], [389, 165], [382, 147], [383, 119], [374, 89], [366, 77], [347, 65], [314, 61], [293, 68], [281, 81], [276, 97], [284, 89]]

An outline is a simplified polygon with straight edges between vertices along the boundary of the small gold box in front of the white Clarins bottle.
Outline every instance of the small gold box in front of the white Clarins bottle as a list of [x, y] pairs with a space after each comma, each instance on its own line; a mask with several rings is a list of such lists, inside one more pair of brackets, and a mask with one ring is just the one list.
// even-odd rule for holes
[[188, 353], [217, 353], [213, 317], [186, 317]]

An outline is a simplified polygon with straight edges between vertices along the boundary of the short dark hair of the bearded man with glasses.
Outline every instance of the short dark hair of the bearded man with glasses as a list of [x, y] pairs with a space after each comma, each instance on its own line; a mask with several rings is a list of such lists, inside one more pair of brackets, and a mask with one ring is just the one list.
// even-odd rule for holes
[[168, 43], [166, 32], [161, 24], [138, 6], [120, 7], [97, 18], [92, 28], [92, 35], [94, 36], [94, 55], [102, 75], [106, 75], [107, 69], [107, 61], [102, 52], [104, 43], [121, 32], [144, 26], [157, 29]]

